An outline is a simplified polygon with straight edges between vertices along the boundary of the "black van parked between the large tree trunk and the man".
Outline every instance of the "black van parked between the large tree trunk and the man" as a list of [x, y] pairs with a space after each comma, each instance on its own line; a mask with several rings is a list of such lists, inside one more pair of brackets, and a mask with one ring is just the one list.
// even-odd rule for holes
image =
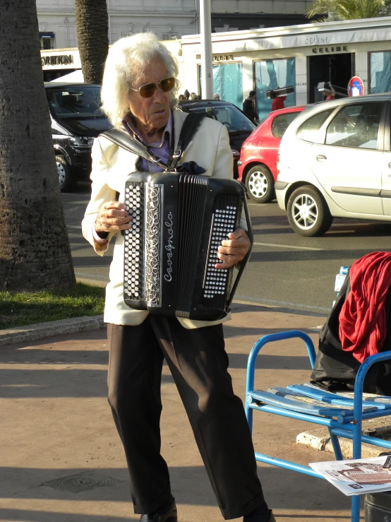
[[52, 119], [52, 136], [62, 192], [74, 188], [91, 172], [94, 138], [110, 129], [100, 109], [100, 85], [45, 83]]

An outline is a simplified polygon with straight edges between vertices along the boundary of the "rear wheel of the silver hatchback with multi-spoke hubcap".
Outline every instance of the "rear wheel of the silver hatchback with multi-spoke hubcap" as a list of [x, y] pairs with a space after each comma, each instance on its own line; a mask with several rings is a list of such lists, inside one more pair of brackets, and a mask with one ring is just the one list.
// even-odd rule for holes
[[323, 198], [313, 186], [300, 186], [289, 196], [288, 220], [301, 236], [321, 236], [332, 225], [332, 215]]

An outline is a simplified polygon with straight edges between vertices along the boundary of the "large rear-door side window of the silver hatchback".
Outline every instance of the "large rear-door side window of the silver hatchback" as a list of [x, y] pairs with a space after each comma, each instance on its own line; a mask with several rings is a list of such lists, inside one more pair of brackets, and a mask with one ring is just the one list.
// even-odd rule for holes
[[383, 102], [346, 105], [327, 127], [326, 145], [378, 148]]

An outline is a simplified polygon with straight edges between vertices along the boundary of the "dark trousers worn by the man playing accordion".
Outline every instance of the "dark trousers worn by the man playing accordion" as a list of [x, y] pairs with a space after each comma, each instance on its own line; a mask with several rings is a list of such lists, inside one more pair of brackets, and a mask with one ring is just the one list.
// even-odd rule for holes
[[108, 325], [109, 404], [124, 444], [136, 514], [172, 498], [160, 455], [163, 359], [178, 388], [222, 515], [265, 503], [243, 404], [227, 372], [222, 325], [188, 330], [151, 316], [139, 326]]

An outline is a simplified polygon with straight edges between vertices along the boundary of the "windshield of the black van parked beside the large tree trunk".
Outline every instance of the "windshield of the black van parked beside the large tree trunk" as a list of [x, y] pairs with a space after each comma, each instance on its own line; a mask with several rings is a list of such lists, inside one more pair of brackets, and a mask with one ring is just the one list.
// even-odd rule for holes
[[47, 89], [49, 107], [58, 118], [103, 117], [99, 85], [69, 85]]

